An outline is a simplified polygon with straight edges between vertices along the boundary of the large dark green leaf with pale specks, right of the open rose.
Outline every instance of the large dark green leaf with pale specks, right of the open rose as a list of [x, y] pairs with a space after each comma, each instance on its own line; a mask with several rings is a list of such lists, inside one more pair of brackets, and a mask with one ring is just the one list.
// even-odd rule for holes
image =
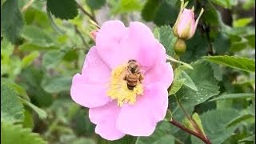
[[183, 106], [195, 106], [205, 102], [208, 98], [217, 95], [218, 81], [214, 78], [214, 71], [209, 62], [194, 62], [194, 70], [184, 70], [194, 82], [198, 91], [192, 90], [187, 86], [182, 86], [175, 94]]

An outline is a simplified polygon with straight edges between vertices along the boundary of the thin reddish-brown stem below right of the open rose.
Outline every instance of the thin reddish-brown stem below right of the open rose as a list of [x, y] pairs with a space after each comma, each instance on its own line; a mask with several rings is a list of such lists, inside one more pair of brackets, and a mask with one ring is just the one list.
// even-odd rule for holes
[[199, 138], [202, 140], [202, 142], [205, 142], [206, 144], [211, 144], [211, 142], [209, 141], [208, 138], [205, 138], [204, 136], [202, 136], [202, 134], [199, 134], [198, 132], [195, 132], [193, 130], [190, 130], [188, 128], [186, 128], [185, 126], [182, 126], [182, 124], [178, 123], [177, 121], [174, 120], [174, 118], [170, 119], [169, 121], [171, 124], [173, 124], [174, 126], [177, 126], [178, 128], [180, 128], [181, 130], [186, 131], [189, 134], [194, 135], [195, 137]]

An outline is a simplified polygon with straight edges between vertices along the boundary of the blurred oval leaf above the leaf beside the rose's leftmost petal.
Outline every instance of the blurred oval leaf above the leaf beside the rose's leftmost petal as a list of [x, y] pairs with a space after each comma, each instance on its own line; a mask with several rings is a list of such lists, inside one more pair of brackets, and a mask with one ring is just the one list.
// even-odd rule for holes
[[46, 69], [54, 68], [62, 61], [65, 53], [62, 50], [51, 50], [46, 52], [42, 57], [42, 66]]

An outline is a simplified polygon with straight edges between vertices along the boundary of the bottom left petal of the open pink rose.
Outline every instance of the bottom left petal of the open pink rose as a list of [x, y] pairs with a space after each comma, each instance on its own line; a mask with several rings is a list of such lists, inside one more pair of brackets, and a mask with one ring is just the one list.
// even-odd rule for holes
[[125, 136], [116, 128], [116, 120], [120, 107], [116, 102], [109, 102], [105, 106], [91, 108], [89, 118], [96, 124], [95, 132], [107, 140], [116, 140]]

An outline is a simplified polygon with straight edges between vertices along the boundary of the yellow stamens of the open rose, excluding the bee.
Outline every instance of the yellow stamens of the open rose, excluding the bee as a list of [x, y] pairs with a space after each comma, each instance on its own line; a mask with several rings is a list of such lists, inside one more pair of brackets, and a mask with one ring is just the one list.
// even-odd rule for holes
[[128, 89], [126, 81], [123, 80], [125, 74], [125, 64], [112, 70], [109, 89], [107, 90], [107, 95], [111, 99], [117, 100], [118, 106], [122, 106], [124, 103], [134, 105], [136, 97], [143, 94], [143, 86], [140, 82], [137, 83], [133, 90]]

